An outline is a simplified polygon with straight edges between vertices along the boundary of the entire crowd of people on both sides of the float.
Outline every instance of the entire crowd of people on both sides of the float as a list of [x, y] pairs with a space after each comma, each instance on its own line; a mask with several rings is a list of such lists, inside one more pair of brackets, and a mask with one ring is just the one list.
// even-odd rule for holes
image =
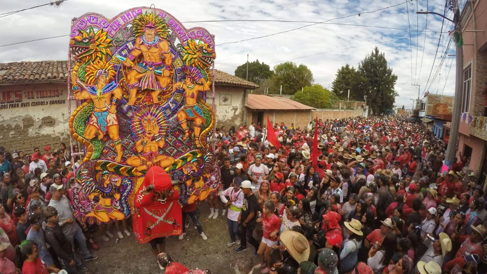
[[[225, 217], [226, 248], [258, 257], [257, 265], [235, 264], [237, 274], [487, 272], [483, 185], [462, 155], [442, 173], [448, 141], [421, 124], [387, 117], [303, 129], [252, 123], [217, 128], [215, 137], [222, 189], [208, 196], [208, 216], [197, 203], [183, 207], [178, 237], [191, 220], [206, 240], [199, 218]], [[0, 147], [0, 273], [85, 272], [84, 262], [98, 258], [92, 234], [114, 237], [112, 223], [96, 228], [73, 215], [80, 163], [65, 144], [32, 155]], [[131, 235], [125, 221], [115, 232]], [[166, 273], [179, 268], [167, 254], [158, 262]]]

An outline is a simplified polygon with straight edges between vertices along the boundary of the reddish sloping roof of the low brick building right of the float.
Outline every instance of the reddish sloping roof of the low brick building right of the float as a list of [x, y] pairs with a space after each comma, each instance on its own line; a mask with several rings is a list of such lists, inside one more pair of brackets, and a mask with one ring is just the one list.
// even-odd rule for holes
[[312, 110], [310, 106], [297, 101], [271, 95], [249, 94], [246, 107], [250, 109], [271, 109], [271, 110]]

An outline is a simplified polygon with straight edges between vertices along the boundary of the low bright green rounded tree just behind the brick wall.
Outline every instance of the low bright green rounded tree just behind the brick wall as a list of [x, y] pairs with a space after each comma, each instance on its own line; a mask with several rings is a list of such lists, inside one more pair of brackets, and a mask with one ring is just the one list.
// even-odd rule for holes
[[304, 87], [302, 91], [295, 93], [291, 99], [314, 108], [332, 108], [337, 101], [336, 95], [320, 84]]

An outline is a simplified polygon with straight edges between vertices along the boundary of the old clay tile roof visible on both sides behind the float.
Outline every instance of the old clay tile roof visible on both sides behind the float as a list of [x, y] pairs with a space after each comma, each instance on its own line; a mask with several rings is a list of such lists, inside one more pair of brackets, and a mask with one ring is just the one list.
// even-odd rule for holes
[[[0, 84], [66, 80], [68, 76], [67, 63], [67, 61], [0, 63]], [[215, 70], [215, 84], [241, 86], [249, 89], [259, 87], [257, 84], [219, 70]]]

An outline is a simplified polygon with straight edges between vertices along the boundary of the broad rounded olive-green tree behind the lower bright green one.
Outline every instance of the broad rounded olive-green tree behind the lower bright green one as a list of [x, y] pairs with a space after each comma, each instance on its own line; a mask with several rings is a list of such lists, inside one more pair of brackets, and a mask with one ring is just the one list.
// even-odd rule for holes
[[279, 94], [282, 85], [282, 94], [295, 94], [302, 88], [311, 86], [314, 82], [311, 70], [300, 64], [285, 62], [274, 66], [274, 75], [271, 77], [269, 94]]

